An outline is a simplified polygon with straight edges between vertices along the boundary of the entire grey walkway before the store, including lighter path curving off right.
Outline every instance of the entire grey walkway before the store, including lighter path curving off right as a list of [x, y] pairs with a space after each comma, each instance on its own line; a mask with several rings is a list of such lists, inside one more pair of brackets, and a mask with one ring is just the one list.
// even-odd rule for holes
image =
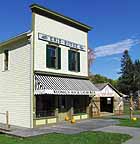
[[84, 131], [102, 131], [129, 134], [133, 138], [123, 144], [140, 144], [140, 128], [115, 126], [116, 124], [119, 124], [119, 121], [115, 119], [89, 119], [75, 124], [63, 122], [33, 129], [11, 127], [11, 131], [5, 133], [18, 137], [31, 137], [48, 133], [76, 134]]

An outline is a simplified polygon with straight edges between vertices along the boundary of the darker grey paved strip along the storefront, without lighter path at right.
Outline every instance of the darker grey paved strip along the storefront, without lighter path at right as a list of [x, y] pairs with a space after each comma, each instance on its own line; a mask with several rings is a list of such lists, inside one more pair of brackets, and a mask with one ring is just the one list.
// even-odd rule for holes
[[76, 134], [84, 131], [92, 131], [93, 129], [103, 128], [110, 125], [116, 125], [118, 123], [118, 120], [113, 119], [88, 119], [78, 121], [75, 124], [71, 124], [70, 122], [63, 122], [51, 126], [43, 126], [33, 129], [11, 127], [11, 131], [7, 131], [5, 133], [19, 137], [31, 137], [53, 132], [63, 134]]

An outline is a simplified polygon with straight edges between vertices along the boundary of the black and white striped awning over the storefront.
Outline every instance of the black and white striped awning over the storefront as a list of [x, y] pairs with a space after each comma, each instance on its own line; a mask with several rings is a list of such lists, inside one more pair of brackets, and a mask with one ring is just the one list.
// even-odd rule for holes
[[35, 75], [35, 95], [92, 95], [98, 90], [89, 80]]

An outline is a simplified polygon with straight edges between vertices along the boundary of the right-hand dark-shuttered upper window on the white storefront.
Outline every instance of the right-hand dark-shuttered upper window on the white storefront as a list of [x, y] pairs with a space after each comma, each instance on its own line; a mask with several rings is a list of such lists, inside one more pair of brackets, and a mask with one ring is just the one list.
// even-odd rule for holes
[[69, 50], [69, 70], [80, 72], [80, 53], [76, 51]]

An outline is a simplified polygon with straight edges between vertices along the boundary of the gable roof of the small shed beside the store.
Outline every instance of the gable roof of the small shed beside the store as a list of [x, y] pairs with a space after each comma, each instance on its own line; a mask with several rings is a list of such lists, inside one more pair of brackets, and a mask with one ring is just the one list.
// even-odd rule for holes
[[98, 83], [94, 84], [99, 90], [103, 90], [107, 85], [110, 86], [119, 96], [123, 96], [114, 86], [112, 86], [110, 83]]

